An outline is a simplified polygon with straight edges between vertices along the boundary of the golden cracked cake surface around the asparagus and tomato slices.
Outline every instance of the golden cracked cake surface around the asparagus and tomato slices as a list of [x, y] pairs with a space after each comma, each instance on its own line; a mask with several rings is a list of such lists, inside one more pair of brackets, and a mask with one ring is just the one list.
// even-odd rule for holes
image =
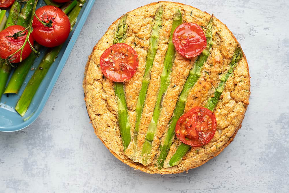
[[[156, 11], [162, 7], [162, 23], [158, 32], [158, 46], [150, 81], [145, 95], [142, 114], [135, 131], [137, 119], [137, 102], [142, 88], [150, 38]], [[127, 117], [130, 126], [130, 142], [124, 147], [120, 130], [118, 97], [115, 93], [115, 82], [109, 80], [101, 71], [100, 58], [103, 52], [114, 44], [116, 31], [119, 30], [120, 19], [108, 28], [97, 45], [95, 45], [85, 67], [83, 88], [86, 108], [96, 135], [103, 144], [119, 160], [127, 165], [147, 173], [179, 173], [201, 166], [203, 163], [217, 156], [235, 137], [241, 127], [244, 114], [249, 104], [250, 77], [249, 68], [244, 53], [234, 66], [234, 70], [225, 81], [223, 90], [212, 110], [216, 117], [216, 132], [212, 140], [202, 146], [190, 147], [180, 161], [171, 166], [173, 157], [181, 141], [173, 135], [162, 167], [158, 160], [161, 148], [164, 146], [170, 120], [184, 84], [189, 76], [190, 69], [194, 68], [198, 57], [185, 58], [175, 53], [171, 73], [168, 76], [169, 84], [162, 95], [161, 109], [156, 130], [151, 141], [151, 149], [147, 160], [143, 161], [142, 148], [150, 122], [152, 120], [158, 92], [160, 90], [164, 58], [168, 49], [169, 36], [176, 9], [180, 10], [183, 23], [196, 23], [205, 31], [209, 21], [212, 21], [212, 46], [207, 60], [202, 66], [200, 77], [190, 88], [186, 98], [184, 113], [196, 106], [206, 106], [210, 98], [214, 98], [222, 77], [230, 71], [230, 63], [234, 52], [240, 47], [238, 41], [225, 24], [216, 17], [190, 5], [175, 2], [160, 1], [137, 8], [125, 14], [126, 32], [123, 43], [131, 46], [138, 54], [138, 68], [131, 79], [123, 82]], [[241, 51], [242, 52], [242, 51]], [[134, 141], [136, 137], [136, 141]], [[136, 143], [134, 143], [136, 142]], [[135, 145], [137, 144], [137, 145]]]

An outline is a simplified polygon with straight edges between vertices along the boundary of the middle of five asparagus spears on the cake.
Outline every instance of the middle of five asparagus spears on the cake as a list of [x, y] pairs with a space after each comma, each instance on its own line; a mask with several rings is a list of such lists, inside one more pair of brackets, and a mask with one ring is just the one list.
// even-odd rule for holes
[[160, 78], [160, 90], [158, 92], [158, 97], [157, 101], [155, 103], [155, 109], [153, 111], [153, 116], [151, 119], [151, 122], [149, 124], [149, 128], [147, 130], [147, 135], [145, 137], [144, 145], [142, 147], [142, 164], [146, 165], [147, 164], [147, 159], [149, 158], [149, 153], [152, 148], [152, 141], [153, 137], [155, 135], [155, 132], [157, 130], [157, 122], [160, 117], [160, 111], [162, 109], [161, 102], [162, 102], [162, 96], [168, 89], [168, 86], [170, 84], [169, 80], [169, 75], [171, 74], [171, 68], [174, 63], [175, 59], [175, 46], [173, 44], [173, 33], [175, 29], [181, 25], [183, 19], [181, 12], [176, 9], [175, 16], [173, 18], [173, 24], [172, 24], [172, 29], [170, 33], [170, 37], [168, 40], [168, 49], [166, 51], [166, 55], [164, 57], [164, 68], [162, 70], [161, 78]]

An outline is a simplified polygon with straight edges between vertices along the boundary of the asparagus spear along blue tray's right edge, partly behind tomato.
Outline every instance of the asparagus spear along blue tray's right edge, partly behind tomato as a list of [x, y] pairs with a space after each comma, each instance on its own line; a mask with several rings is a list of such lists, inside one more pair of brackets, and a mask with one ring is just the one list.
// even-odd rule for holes
[[[79, 6], [81, 4], [80, 1], [77, 2], [77, 5], [73, 8], [73, 10], [68, 14], [69, 21], [73, 21], [77, 18], [82, 6]], [[74, 25], [74, 23], [71, 25]], [[24, 89], [20, 99], [18, 100], [15, 110], [23, 116], [31, 101], [34, 97], [41, 81], [45, 77], [47, 71], [49, 70], [50, 66], [54, 62], [56, 56], [60, 52], [60, 49], [62, 48], [62, 45], [56, 46], [54, 48], [49, 48], [45, 54], [45, 56], [42, 58], [38, 68], [34, 72], [33, 76], [29, 80], [26, 88]]]

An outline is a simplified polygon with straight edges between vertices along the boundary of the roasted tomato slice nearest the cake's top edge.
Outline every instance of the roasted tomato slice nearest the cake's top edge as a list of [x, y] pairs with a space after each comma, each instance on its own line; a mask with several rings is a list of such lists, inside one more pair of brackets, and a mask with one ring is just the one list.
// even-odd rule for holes
[[186, 58], [198, 56], [207, 45], [202, 28], [196, 23], [183, 23], [173, 34], [173, 43], [177, 52]]

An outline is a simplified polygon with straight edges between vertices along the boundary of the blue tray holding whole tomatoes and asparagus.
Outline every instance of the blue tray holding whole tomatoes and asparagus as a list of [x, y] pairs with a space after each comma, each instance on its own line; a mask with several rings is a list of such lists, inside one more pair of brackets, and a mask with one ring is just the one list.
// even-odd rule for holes
[[[29, 70], [29, 73], [24, 81], [24, 85], [21, 87], [19, 93], [2, 95], [2, 98], [0, 100], [0, 131], [18, 131], [29, 126], [37, 119], [45, 103], [48, 100], [48, 97], [66, 63], [66, 60], [75, 44], [75, 41], [77, 40], [77, 37], [84, 25], [84, 22], [86, 21], [86, 18], [94, 2], [95, 0], [87, 0], [87, 2], [84, 4], [77, 17], [77, 22], [74, 25], [72, 32], [70, 32], [69, 37], [67, 38], [64, 46], [58, 54], [58, 57], [56, 58], [55, 62], [52, 64], [45, 78], [41, 82], [35, 94], [35, 97], [33, 98], [25, 115], [21, 117], [21, 115], [19, 115], [15, 111], [14, 107], [18, 99], [20, 98], [27, 82], [29, 81], [29, 78], [33, 75], [35, 71], [34, 68], [37, 68], [41, 58], [44, 56], [45, 49], [40, 50], [41, 55], [36, 58], [31, 70]], [[38, 6], [40, 5], [45, 5], [44, 1], [39, 1]], [[10, 76], [11, 74], [12, 73], [10, 73]]]

